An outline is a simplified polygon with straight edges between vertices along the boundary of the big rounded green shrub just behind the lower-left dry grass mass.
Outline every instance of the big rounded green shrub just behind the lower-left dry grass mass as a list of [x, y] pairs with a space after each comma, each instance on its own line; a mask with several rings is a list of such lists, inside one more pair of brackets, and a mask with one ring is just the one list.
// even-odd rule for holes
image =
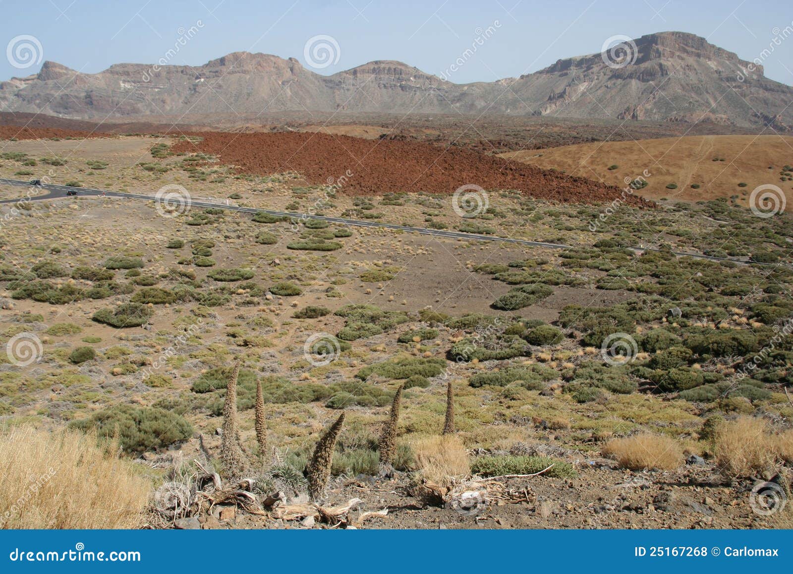
[[71, 426], [81, 430], [96, 429], [100, 437], [117, 434], [121, 446], [132, 453], [160, 449], [193, 435], [193, 427], [181, 415], [148, 406], [111, 406]]

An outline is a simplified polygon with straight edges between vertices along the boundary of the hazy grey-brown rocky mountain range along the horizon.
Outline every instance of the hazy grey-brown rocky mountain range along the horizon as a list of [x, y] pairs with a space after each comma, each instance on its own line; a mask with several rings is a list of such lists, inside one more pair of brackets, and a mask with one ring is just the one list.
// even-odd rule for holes
[[96, 74], [45, 61], [35, 75], [0, 83], [0, 106], [80, 119], [341, 110], [793, 125], [793, 87], [702, 37], [653, 33], [626, 45], [622, 60], [595, 53], [467, 84], [392, 60], [326, 76], [294, 58], [249, 52], [202, 66], [114, 64]]

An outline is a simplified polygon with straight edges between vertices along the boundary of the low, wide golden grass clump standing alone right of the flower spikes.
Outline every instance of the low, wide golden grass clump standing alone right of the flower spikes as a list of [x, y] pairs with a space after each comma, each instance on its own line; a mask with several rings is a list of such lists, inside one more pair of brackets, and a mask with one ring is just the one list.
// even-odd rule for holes
[[602, 452], [604, 457], [613, 458], [630, 470], [674, 470], [683, 464], [683, 449], [677, 441], [663, 434], [615, 438], [603, 445]]

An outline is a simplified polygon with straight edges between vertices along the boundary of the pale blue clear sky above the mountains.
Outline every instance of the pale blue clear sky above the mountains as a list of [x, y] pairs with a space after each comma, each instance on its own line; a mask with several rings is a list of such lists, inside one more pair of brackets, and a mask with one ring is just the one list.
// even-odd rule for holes
[[[789, 0], [0, 0], [0, 10], [0, 44], [8, 47], [13, 38], [29, 35], [40, 45], [36, 59], [88, 73], [121, 62], [156, 63], [182, 31], [193, 27], [193, 37], [167, 56], [169, 64], [200, 65], [248, 51], [293, 56], [306, 65], [305, 44], [325, 35], [338, 49], [328, 44], [334, 57], [325, 67], [320, 61], [311, 68], [318, 73], [370, 60], [401, 60], [441, 75], [480, 31], [491, 28], [476, 55], [450, 75], [457, 83], [537, 71], [559, 58], [600, 52], [608, 37], [638, 38], [664, 30], [707, 37], [753, 60], [779, 30], [793, 29]], [[793, 37], [774, 48], [764, 57], [765, 74], [791, 85]], [[0, 58], [0, 79], [39, 70], [40, 64], [13, 67], [7, 52]]]

